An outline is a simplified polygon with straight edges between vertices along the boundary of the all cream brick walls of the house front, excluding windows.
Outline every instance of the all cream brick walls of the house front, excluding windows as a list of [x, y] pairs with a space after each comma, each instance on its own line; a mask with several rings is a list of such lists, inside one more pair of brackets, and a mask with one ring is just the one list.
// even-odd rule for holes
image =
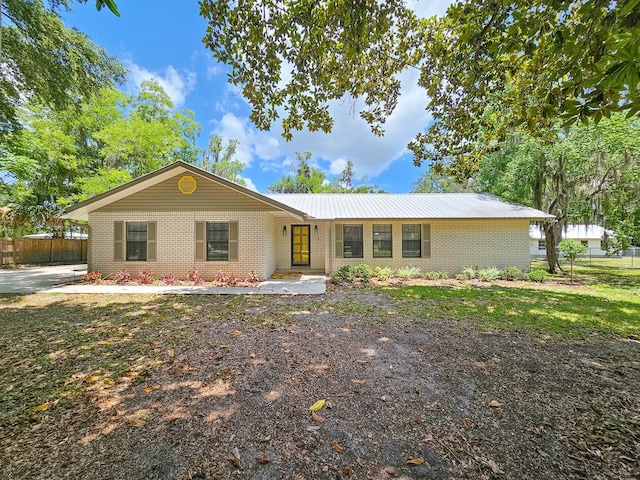
[[[158, 229], [156, 262], [114, 262], [113, 223], [115, 221], [156, 221]], [[196, 262], [196, 221], [238, 221], [238, 261]], [[330, 221], [297, 222], [275, 218], [261, 212], [96, 212], [89, 216], [91, 225], [90, 259], [92, 270], [103, 274], [126, 268], [132, 275], [149, 268], [157, 276], [172, 274], [186, 277], [196, 269], [205, 279], [218, 270], [230, 271], [245, 278], [251, 270], [268, 278], [276, 270], [291, 267], [291, 225], [310, 226], [310, 270], [332, 272], [342, 265], [367, 263], [373, 267], [399, 268], [419, 266], [423, 272], [445, 271], [450, 275], [466, 266], [504, 268], [514, 265], [523, 271], [530, 268], [528, 220], [420, 220], [420, 221], [350, 221], [363, 225], [363, 258], [335, 258], [334, 224]], [[373, 224], [390, 223], [393, 231], [393, 257], [373, 258]], [[431, 257], [402, 258], [402, 225], [431, 225]], [[318, 226], [318, 232], [314, 227]], [[287, 227], [286, 236], [282, 234]], [[299, 270], [299, 267], [295, 267]]]

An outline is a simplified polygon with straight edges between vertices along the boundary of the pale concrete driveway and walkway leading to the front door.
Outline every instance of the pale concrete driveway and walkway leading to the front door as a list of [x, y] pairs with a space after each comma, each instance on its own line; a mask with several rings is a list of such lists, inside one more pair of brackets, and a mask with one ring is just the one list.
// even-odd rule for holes
[[69, 282], [80, 280], [86, 272], [86, 265], [0, 269], [0, 294], [321, 295], [326, 292], [324, 275], [302, 275], [297, 278], [268, 279], [255, 287], [69, 284]]

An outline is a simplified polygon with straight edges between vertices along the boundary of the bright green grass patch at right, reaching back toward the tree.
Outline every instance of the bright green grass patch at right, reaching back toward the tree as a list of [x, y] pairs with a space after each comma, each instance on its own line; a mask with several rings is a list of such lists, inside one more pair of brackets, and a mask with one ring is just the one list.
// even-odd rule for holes
[[466, 320], [479, 328], [583, 337], [640, 337], [640, 269], [575, 267], [575, 282], [513, 287], [469, 284], [389, 288], [417, 318]]

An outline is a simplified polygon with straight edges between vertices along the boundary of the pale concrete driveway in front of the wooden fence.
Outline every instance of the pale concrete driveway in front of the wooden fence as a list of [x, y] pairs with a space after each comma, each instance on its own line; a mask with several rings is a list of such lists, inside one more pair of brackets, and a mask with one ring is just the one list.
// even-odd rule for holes
[[0, 293], [38, 293], [79, 280], [85, 273], [86, 264], [0, 269]]

